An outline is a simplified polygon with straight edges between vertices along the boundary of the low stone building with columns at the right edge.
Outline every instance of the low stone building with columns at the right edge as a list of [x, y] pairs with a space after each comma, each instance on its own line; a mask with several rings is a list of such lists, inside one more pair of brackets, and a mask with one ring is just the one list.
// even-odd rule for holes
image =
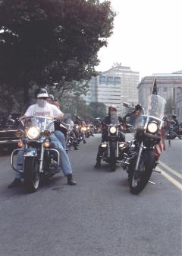
[[144, 77], [138, 85], [139, 102], [143, 106], [146, 99], [152, 93], [152, 85], [156, 78], [158, 95], [164, 97], [168, 102], [171, 101], [173, 105], [173, 112], [175, 110], [175, 102], [177, 94], [182, 88], [182, 72], [174, 72], [171, 74], [153, 74]]

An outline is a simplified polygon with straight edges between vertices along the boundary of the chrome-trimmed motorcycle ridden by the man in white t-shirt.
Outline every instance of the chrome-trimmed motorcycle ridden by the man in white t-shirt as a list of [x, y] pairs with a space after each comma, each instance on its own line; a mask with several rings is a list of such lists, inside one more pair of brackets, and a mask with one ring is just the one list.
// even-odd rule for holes
[[[24, 122], [21, 121], [23, 129], [16, 132], [20, 149], [12, 152], [11, 166], [23, 174], [29, 192], [38, 189], [40, 178], [51, 178], [59, 172], [60, 155], [57, 149], [52, 149], [50, 142], [50, 129], [54, 122], [49, 117], [26, 117]], [[17, 153], [24, 157], [22, 170], [14, 164]]]

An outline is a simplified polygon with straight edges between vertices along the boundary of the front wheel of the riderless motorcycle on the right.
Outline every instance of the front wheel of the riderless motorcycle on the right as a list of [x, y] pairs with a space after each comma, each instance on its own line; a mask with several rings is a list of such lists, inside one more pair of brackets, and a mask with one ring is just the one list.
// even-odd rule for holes
[[137, 157], [129, 165], [129, 182], [131, 194], [140, 194], [146, 187], [152, 174], [155, 163], [155, 154], [152, 151], [145, 152], [140, 158], [139, 171], [134, 171]]

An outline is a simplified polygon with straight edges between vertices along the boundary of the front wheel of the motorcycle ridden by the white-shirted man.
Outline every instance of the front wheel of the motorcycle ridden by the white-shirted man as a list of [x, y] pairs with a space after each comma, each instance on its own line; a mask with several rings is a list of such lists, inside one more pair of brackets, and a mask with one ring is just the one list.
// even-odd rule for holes
[[34, 157], [24, 159], [24, 183], [29, 192], [35, 192], [39, 187], [39, 160]]

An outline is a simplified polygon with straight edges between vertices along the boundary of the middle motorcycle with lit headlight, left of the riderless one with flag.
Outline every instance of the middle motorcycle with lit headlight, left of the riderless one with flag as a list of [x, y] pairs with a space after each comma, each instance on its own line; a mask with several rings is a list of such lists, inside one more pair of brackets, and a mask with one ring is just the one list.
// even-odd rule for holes
[[124, 134], [121, 132], [121, 123], [119, 123], [117, 112], [111, 113], [111, 123], [105, 125], [106, 139], [101, 143], [102, 160], [108, 162], [111, 171], [116, 170], [116, 164], [121, 162], [123, 154], [121, 146], [125, 141]]

